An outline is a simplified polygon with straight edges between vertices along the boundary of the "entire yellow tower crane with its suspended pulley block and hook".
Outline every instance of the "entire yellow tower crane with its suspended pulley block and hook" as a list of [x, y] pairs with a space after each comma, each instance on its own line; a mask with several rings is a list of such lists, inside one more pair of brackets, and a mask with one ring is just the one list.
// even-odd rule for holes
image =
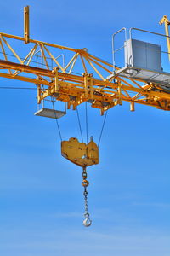
[[[23, 37], [0, 32], [0, 77], [35, 84], [38, 105], [49, 98], [56, 102], [63, 102], [67, 109], [75, 110], [83, 102], [88, 102], [92, 108], [98, 108], [101, 115], [110, 108], [122, 105], [122, 102], [129, 102], [131, 111], [135, 110], [136, 104], [170, 110], [170, 73], [135, 66], [135, 61], [133, 64], [127, 61], [126, 67], [122, 68], [88, 53], [88, 49], [74, 49], [31, 39], [28, 6], [24, 9], [24, 18]], [[163, 16], [160, 21], [160, 24], [162, 23], [165, 23], [166, 27], [165, 37], [170, 60], [168, 34], [170, 22], [167, 20], [167, 16]], [[120, 32], [122, 31], [125, 31], [125, 35], [127, 35], [124, 28]], [[116, 34], [117, 32], [113, 35], [114, 54], [116, 53], [114, 49]], [[132, 38], [129, 40], [126, 39], [123, 46], [125, 52], [126, 49], [132, 48], [133, 44], [139, 44]], [[27, 45], [29, 47], [26, 48], [26, 56], [21, 58], [17, 51], [20, 51], [20, 45], [23, 44], [25, 44], [25, 48]], [[19, 45], [18, 50], [15, 49], [16, 45]], [[66, 65], [62, 65], [59, 58], [56, 57], [58, 50], [65, 50]], [[41, 53], [42, 67], [37, 67], [37, 61], [35, 61], [37, 52]], [[126, 58], [129, 59], [127, 52]], [[76, 66], [82, 74], [74, 73]], [[66, 111], [42, 108], [36, 114], [58, 119], [65, 113]], [[85, 199], [83, 224], [89, 226], [91, 220], [88, 213], [86, 168], [99, 163], [99, 147], [94, 143], [93, 137], [89, 143], [80, 143], [77, 138], [70, 138], [69, 141], [61, 142], [61, 154], [74, 164], [82, 166], [82, 186]]]

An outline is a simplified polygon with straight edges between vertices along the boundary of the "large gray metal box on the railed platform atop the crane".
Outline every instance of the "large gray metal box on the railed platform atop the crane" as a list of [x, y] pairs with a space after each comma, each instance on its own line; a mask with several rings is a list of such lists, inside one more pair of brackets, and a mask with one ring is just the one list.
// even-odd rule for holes
[[127, 66], [162, 72], [161, 46], [136, 39], [125, 42], [125, 63]]

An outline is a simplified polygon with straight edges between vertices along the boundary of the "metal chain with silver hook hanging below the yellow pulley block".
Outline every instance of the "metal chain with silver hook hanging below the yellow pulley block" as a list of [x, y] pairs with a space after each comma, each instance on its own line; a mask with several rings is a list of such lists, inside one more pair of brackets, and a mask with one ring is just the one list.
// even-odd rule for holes
[[85, 227], [89, 227], [92, 224], [91, 219], [89, 218], [89, 213], [88, 213], [88, 191], [87, 191], [87, 187], [89, 185], [89, 182], [87, 180], [87, 172], [86, 172], [86, 167], [83, 167], [83, 171], [82, 171], [82, 186], [84, 187], [84, 207], [85, 207], [85, 212], [84, 212], [84, 220], [83, 220], [83, 225]]

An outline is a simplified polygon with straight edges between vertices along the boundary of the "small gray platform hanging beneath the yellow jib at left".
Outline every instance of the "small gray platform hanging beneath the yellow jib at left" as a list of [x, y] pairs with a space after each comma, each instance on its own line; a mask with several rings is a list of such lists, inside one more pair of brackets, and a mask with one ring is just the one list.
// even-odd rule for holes
[[63, 117], [66, 114], [66, 112], [50, 108], [42, 108], [34, 114], [38, 116], [48, 117], [50, 119], [59, 119]]

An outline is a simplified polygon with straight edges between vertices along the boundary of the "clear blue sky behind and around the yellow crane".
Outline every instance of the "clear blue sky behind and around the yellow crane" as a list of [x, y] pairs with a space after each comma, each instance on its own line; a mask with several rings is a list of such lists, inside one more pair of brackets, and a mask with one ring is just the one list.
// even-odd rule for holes
[[[111, 34], [122, 26], [164, 32], [169, 1], [1, 1], [0, 31], [111, 61]], [[22, 51], [22, 49], [20, 49]], [[31, 86], [0, 78], [0, 86]], [[169, 256], [170, 113], [127, 103], [108, 113], [99, 166], [89, 168], [93, 225], [82, 226], [82, 170], [60, 155], [53, 119], [35, 117], [36, 91], [0, 90], [0, 255]], [[80, 109], [83, 118], [84, 106]], [[90, 134], [103, 117], [88, 108]], [[64, 138], [79, 136], [76, 113], [59, 120]]]

